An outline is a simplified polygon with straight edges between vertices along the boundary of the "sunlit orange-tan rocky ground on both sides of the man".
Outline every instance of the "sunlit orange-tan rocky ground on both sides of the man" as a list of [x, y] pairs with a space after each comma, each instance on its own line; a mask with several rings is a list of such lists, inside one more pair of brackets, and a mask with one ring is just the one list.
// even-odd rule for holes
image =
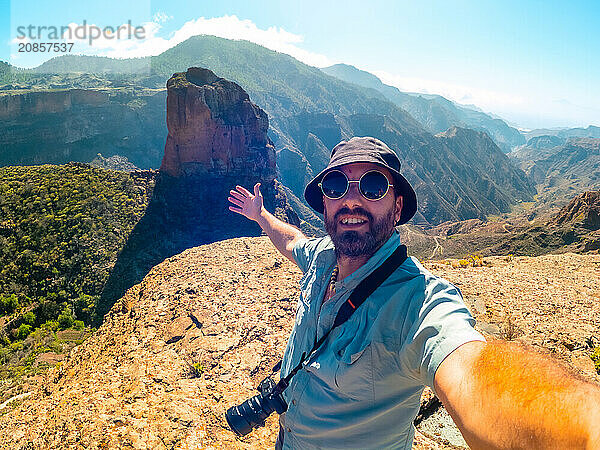
[[[425, 265], [462, 290], [485, 333], [531, 343], [600, 381], [589, 358], [600, 345], [600, 255], [483, 262]], [[274, 417], [242, 439], [223, 417], [281, 357], [299, 278], [265, 237], [167, 259], [30, 394], [0, 405], [0, 448], [272, 448]], [[430, 431], [414, 446], [449, 447]]]

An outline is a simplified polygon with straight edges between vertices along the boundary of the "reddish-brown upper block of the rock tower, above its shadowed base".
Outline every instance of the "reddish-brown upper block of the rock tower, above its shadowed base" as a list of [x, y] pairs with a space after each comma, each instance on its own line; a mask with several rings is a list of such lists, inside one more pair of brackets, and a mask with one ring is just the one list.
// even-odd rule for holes
[[169, 134], [161, 171], [275, 178], [267, 114], [236, 83], [191, 67], [167, 82]]

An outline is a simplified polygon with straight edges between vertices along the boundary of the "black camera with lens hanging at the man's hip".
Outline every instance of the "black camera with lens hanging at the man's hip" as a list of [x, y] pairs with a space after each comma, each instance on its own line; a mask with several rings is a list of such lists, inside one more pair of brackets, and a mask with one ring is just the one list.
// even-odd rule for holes
[[229, 428], [238, 436], [245, 436], [254, 428], [262, 427], [273, 411], [277, 414], [287, 411], [287, 403], [281, 395], [286, 387], [287, 383], [283, 380], [277, 384], [269, 377], [262, 380], [257, 388], [260, 394], [227, 410], [225, 419]]

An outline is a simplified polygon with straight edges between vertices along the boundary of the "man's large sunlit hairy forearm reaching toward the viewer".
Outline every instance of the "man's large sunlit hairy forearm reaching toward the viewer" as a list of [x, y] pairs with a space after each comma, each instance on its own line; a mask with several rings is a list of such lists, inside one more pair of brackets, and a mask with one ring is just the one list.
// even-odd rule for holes
[[600, 449], [600, 386], [522, 345], [468, 342], [434, 384], [471, 448]]

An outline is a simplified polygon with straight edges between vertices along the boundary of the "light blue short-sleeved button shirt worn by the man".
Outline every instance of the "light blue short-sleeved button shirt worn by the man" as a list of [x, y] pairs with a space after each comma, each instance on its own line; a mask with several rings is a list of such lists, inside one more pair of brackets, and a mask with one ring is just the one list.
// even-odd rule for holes
[[[294, 258], [304, 276], [296, 322], [281, 375], [287, 375], [333, 325], [351, 291], [400, 245], [392, 237], [366, 264], [336, 284], [322, 307], [335, 267], [329, 237], [303, 239]], [[458, 288], [409, 257], [331, 332], [284, 391], [283, 448], [410, 449], [425, 386], [465, 342], [484, 340]]]

